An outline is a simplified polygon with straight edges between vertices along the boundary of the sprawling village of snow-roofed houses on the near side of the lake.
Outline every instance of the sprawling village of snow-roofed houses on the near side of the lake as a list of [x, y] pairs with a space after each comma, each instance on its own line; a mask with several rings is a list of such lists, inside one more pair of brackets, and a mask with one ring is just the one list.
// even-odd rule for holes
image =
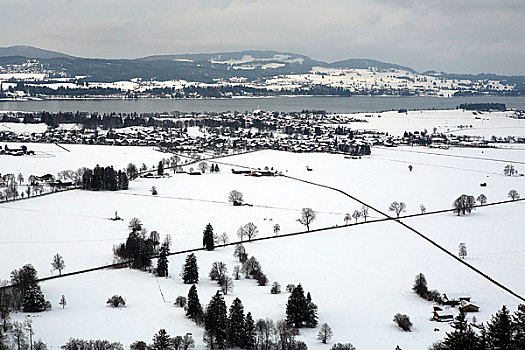
[[[183, 117], [182, 119], [187, 118]], [[173, 118], [172, 118], [173, 119]], [[241, 122], [240, 122], [241, 121]], [[169, 152], [275, 149], [291, 152], [337, 152], [370, 154], [371, 134], [343, 127], [355, 120], [322, 111], [301, 113], [252, 113], [199, 115], [182, 127], [134, 126], [120, 129], [49, 128], [44, 132], [0, 131], [0, 141], [76, 143], [116, 146], [157, 146]], [[360, 120], [359, 120], [360, 121]], [[233, 124], [233, 126], [232, 126]], [[188, 132], [184, 125], [196, 125], [204, 132]]]

